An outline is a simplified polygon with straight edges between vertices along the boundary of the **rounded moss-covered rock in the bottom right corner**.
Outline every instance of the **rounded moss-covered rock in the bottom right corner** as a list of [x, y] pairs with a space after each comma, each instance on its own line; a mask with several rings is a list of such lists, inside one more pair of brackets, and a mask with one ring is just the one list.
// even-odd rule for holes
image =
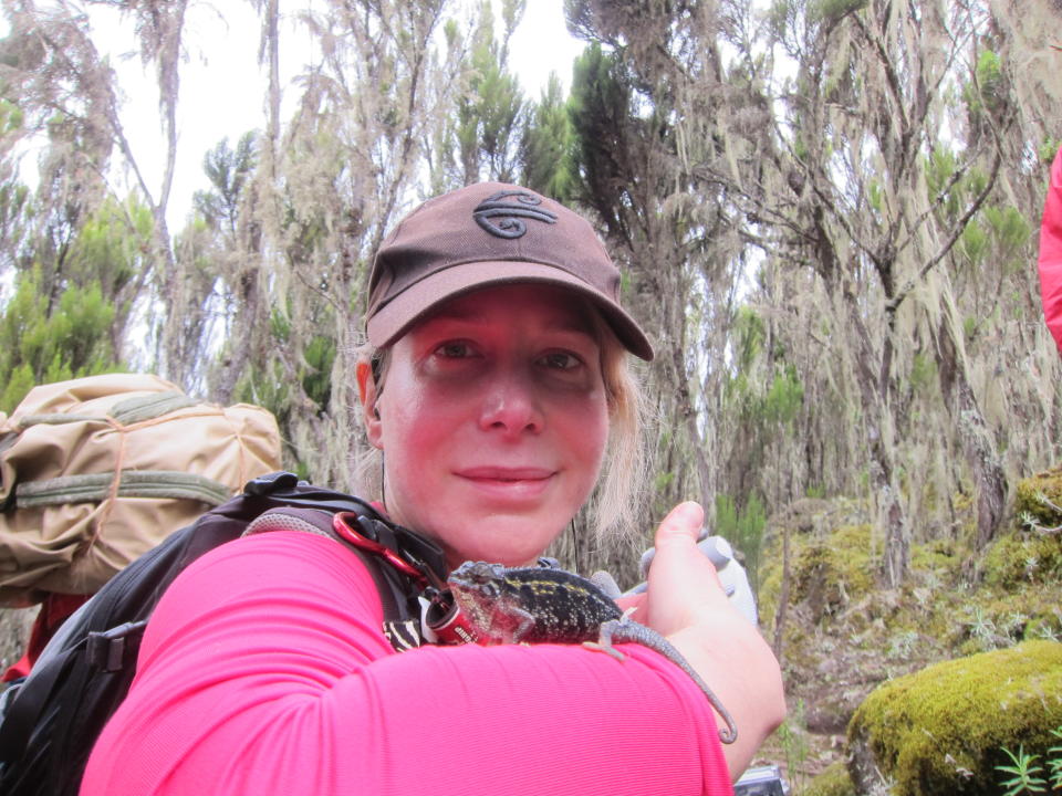
[[858, 793], [999, 793], [1002, 748], [1045, 750], [1062, 725], [1062, 643], [946, 661], [878, 687], [848, 725]]

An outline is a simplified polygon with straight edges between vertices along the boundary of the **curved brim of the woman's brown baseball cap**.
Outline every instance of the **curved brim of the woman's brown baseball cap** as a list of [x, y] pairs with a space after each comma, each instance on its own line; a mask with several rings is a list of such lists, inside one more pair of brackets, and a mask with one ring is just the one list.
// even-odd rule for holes
[[518, 283], [553, 284], [585, 296], [601, 311], [627, 350], [646, 362], [653, 358], [653, 346], [634, 318], [604, 293], [553, 265], [512, 260], [452, 265], [409, 285], [368, 320], [368, 342], [383, 348], [445, 301], [482, 287]]

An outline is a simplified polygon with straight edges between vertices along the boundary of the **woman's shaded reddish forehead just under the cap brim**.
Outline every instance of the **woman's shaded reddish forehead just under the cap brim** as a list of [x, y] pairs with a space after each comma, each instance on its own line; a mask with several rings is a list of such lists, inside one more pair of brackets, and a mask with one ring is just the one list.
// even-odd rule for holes
[[520, 283], [483, 287], [449, 298], [415, 327], [433, 322], [533, 323], [543, 328], [597, 337], [597, 311], [577, 293], [555, 285]]

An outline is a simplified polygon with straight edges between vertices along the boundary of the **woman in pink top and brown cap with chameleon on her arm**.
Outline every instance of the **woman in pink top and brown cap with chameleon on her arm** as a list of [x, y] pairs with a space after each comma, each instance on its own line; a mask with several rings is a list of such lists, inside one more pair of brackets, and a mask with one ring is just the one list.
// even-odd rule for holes
[[[618, 281], [585, 221], [514, 186], [430, 200], [381, 249], [357, 366], [377, 494], [450, 567], [534, 562], [603, 467], [598, 515], [615, 515], [636, 450], [625, 352], [652, 356]], [[82, 794], [726, 793], [784, 704], [696, 551], [702, 520], [684, 503], [662, 523], [633, 607], [729, 709], [732, 745], [694, 681], [637, 645], [623, 661], [574, 645], [395, 654], [360, 559], [277, 532], [167, 591]]]

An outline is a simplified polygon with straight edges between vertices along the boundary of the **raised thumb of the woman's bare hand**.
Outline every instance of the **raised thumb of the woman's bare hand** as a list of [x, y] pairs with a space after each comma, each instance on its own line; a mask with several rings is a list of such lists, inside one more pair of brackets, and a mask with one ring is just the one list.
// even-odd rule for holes
[[656, 556], [648, 574], [648, 624], [667, 636], [694, 625], [727, 596], [711, 562], [697, 549], [705, 522], [700, 504], [680, 503], [656, 531]]

